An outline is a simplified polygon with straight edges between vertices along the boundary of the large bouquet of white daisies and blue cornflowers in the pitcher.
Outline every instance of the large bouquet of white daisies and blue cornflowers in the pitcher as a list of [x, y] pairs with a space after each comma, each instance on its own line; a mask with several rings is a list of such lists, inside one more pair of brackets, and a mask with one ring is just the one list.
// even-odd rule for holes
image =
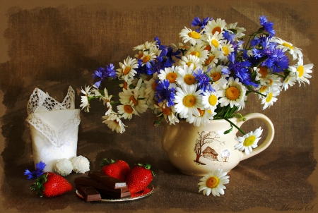
[[[196, 17], [193, 30], [179, 32], [182, 43], [166, 46], [155, 37], [138, 45], [136, 55], [117, 69], [110, 63], [95, 71], [94, 85], [81, 89], [81, 107], [88, 112], [90, 101], [100, 99], [107, 107], [102, 122], [117, 133], [124, 133], [123, 119], [147, 109], [158, 116], [155, 126], [180, 118], [201, 126], [212, 119], [229, 121], [251, 93], [269, 108], [282, 90], [296, 82], [310, 84], [313, 64], [304, 65], [301, 49], [275, 37], [266, 16], [259, 21], [260, 28], [247, 36], [237, 23]], [[116, 100], [107, 87], [101, 88], [105, 80], [117, 80], [122, 87]]]

